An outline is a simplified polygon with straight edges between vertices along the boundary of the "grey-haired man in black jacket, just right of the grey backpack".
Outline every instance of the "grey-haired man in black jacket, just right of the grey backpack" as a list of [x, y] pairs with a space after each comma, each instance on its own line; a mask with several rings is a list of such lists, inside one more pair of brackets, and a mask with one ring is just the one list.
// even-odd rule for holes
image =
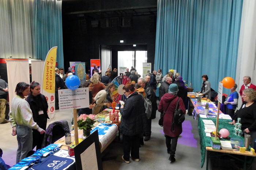
[[146, 137], [144, 138], [144, 141], [148, 141], [151, 136], [151, 121], [152, 119], [155, 119], [156, 112], [157, 112], [157, 96], [155, 95], [153, 89], [150, 87], [149, 83], [147, 83], [145, 79], [139, 78], [138, 84], [140, 85], [140, 87], [145, 89], [144, 92], [146, 93], [147, 98], [152, 103], [152, 113], [151, 113], [151, 117], [148, 119], [150, 131], [146, 132]]

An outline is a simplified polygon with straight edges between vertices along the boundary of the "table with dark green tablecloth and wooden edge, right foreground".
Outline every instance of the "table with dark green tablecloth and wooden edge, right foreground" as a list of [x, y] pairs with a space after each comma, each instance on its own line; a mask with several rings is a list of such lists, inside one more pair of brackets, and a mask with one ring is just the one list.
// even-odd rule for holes
[[[199, 137], [200, 137], [200, 147], [201, 147], [201, 155], [202, 155], [201, 167], [203, 167], [203, 165], [204, 165], [206, 149], [211, 147], [211, 138], [206, 137], [206, 133], [204, 132], [205, 128], [204, 128], [203, 119], [212, 120], [216, 126], [216, 118], [201, 118], [199, 116], [199, 118], [198, 118], [198, 133], [199, 133]], [[231, 122], [231, 120], [219, 119], [218, 131], [223, 128], [229, 130], [229, 138], [227, 138], [227, 139], [223, 138], [221, 140], [229, 141], [230, 138], [240, 138], [244, 141], [244, 137], [239, 137], [233, 133], [234, 125], [229, 124], [229, 122]], [[249, 151], [246, 151], [246, 153], [240, 153], [239, 151], [227, 151], [227, 150], [222, 150], [222, 149], [221, 150], [212, 150], [212, 148], [211, 148], [211, 151], [222, 152], [222, 153], [226, 153], [226, 154], [239, 154], [239, 155], [253, 156], [253, 157], [256, 156], [256, 155], [252, 155]], [[210, 151], [207, 149], [207, 152], [210, 152]], [[207, 160], [207, 163], [208, 163], [208, 160]], [[246, 159], [245, 159], [245, 165], [246, 165]], [[208, 169], [208, 164], [207, 164], [206, 169]]]

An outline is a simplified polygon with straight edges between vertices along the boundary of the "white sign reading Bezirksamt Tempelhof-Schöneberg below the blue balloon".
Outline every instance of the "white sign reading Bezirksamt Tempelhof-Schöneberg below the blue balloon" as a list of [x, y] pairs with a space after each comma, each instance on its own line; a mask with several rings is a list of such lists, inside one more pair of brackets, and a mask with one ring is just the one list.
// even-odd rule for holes
[[73, 110], [89, 107], [89, 88], [77, 88], [76, 90], [59, 90], [59, 108], [63, 110]]

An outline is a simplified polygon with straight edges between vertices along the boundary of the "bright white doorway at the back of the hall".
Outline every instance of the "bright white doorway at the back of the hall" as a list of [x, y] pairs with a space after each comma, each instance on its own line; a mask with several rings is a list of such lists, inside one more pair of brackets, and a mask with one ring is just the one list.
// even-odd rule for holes
[[[142, 63], [147, 63], [147, 51], [118, 51], [118, 68], [127, 67], [131, 70], [131, 66], [133, 66], [142, 76]], [[119, 69], [118, 75], [120, 75]]]

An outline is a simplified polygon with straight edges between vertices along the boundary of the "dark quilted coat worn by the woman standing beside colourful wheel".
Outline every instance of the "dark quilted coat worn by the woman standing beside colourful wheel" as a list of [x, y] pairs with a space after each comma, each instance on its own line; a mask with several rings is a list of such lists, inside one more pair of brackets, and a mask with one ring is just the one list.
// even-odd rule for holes
[[143, 98], [133, 92], [120, 109], [122, 115], [119, 130], [127, 136], [134, 136], [149, 130]]

